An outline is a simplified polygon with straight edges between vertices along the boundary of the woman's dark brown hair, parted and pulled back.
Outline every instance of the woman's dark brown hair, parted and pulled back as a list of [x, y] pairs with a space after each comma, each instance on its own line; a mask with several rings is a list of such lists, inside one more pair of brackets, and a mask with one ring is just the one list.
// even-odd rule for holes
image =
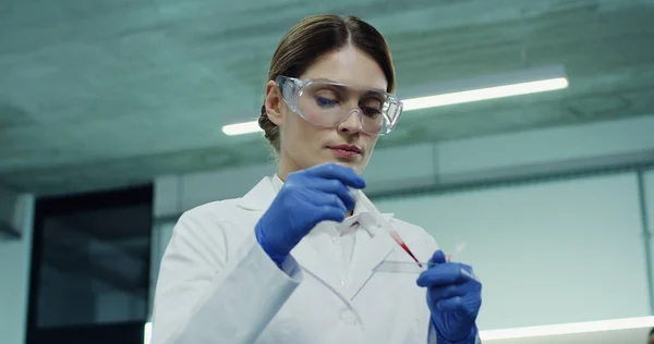
[[[268, 81], [275, 81], [279, 75], [300, 77], [318, 58], [349, 45], [377, 62], [386, 76], [387, 91], [392, 93], [395, 67], [384, 36], [359, 17], [335, 14], [312, 15], [295, 24], [277, 46], [270, 61]], [[268, 119], [265, 105], [258, 124], [266, 139], [279, 151], [279, 127]]]

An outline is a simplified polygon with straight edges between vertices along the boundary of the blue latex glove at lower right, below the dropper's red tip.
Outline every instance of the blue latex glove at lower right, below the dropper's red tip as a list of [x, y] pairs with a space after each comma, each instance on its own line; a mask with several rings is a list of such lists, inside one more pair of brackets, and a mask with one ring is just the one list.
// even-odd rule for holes
[[432, 311], [437, 342], [475, 343], [482, 283], [470, 266], [446, 262], [441, 250], [437, 250], [429, 261], [436, 265], [423, 271], [416, 283], [427, 287], [427, 306]]

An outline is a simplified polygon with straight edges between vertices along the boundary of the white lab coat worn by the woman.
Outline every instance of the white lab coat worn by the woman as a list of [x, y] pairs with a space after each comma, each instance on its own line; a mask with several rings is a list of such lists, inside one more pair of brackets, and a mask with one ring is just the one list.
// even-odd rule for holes
[[382, 214], [358, 197], [355, 244], [346, 284], [304, 237], [279, 269], [254, 226], [276, 196], [264, 177], [244, 197], [186, 211], [157, 281], [152, 344], [435, 343], [417, 273], [373, 272], [383, 260], [412, 261], [437, 249], [423, 229]]

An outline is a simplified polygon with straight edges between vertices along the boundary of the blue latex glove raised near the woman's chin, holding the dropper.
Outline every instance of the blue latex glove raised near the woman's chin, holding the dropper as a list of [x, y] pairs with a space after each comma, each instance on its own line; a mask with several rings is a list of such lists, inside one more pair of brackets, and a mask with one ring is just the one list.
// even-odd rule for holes
[[365, 181], [353, 169], [331, 162], [289, 173], [254, 228], [257, 242], [278, 267], [318, 222], [341, 222], [354, 209], [348, 186], [363, 188]]

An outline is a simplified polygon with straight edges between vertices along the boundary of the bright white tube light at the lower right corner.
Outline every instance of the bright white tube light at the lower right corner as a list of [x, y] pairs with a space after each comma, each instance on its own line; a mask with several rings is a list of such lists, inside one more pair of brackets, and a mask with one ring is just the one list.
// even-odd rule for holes
[[625, 318], [613, 320], [572, 322], [549, 324], [530, 328], [516, 328], [506, 330], [480, 331], [482, 341], [524, 339], [534, 336], [548, 336], [574, 333], [591, 333], [601, 331], [616, 331], [654, 327], [654, 317]]

